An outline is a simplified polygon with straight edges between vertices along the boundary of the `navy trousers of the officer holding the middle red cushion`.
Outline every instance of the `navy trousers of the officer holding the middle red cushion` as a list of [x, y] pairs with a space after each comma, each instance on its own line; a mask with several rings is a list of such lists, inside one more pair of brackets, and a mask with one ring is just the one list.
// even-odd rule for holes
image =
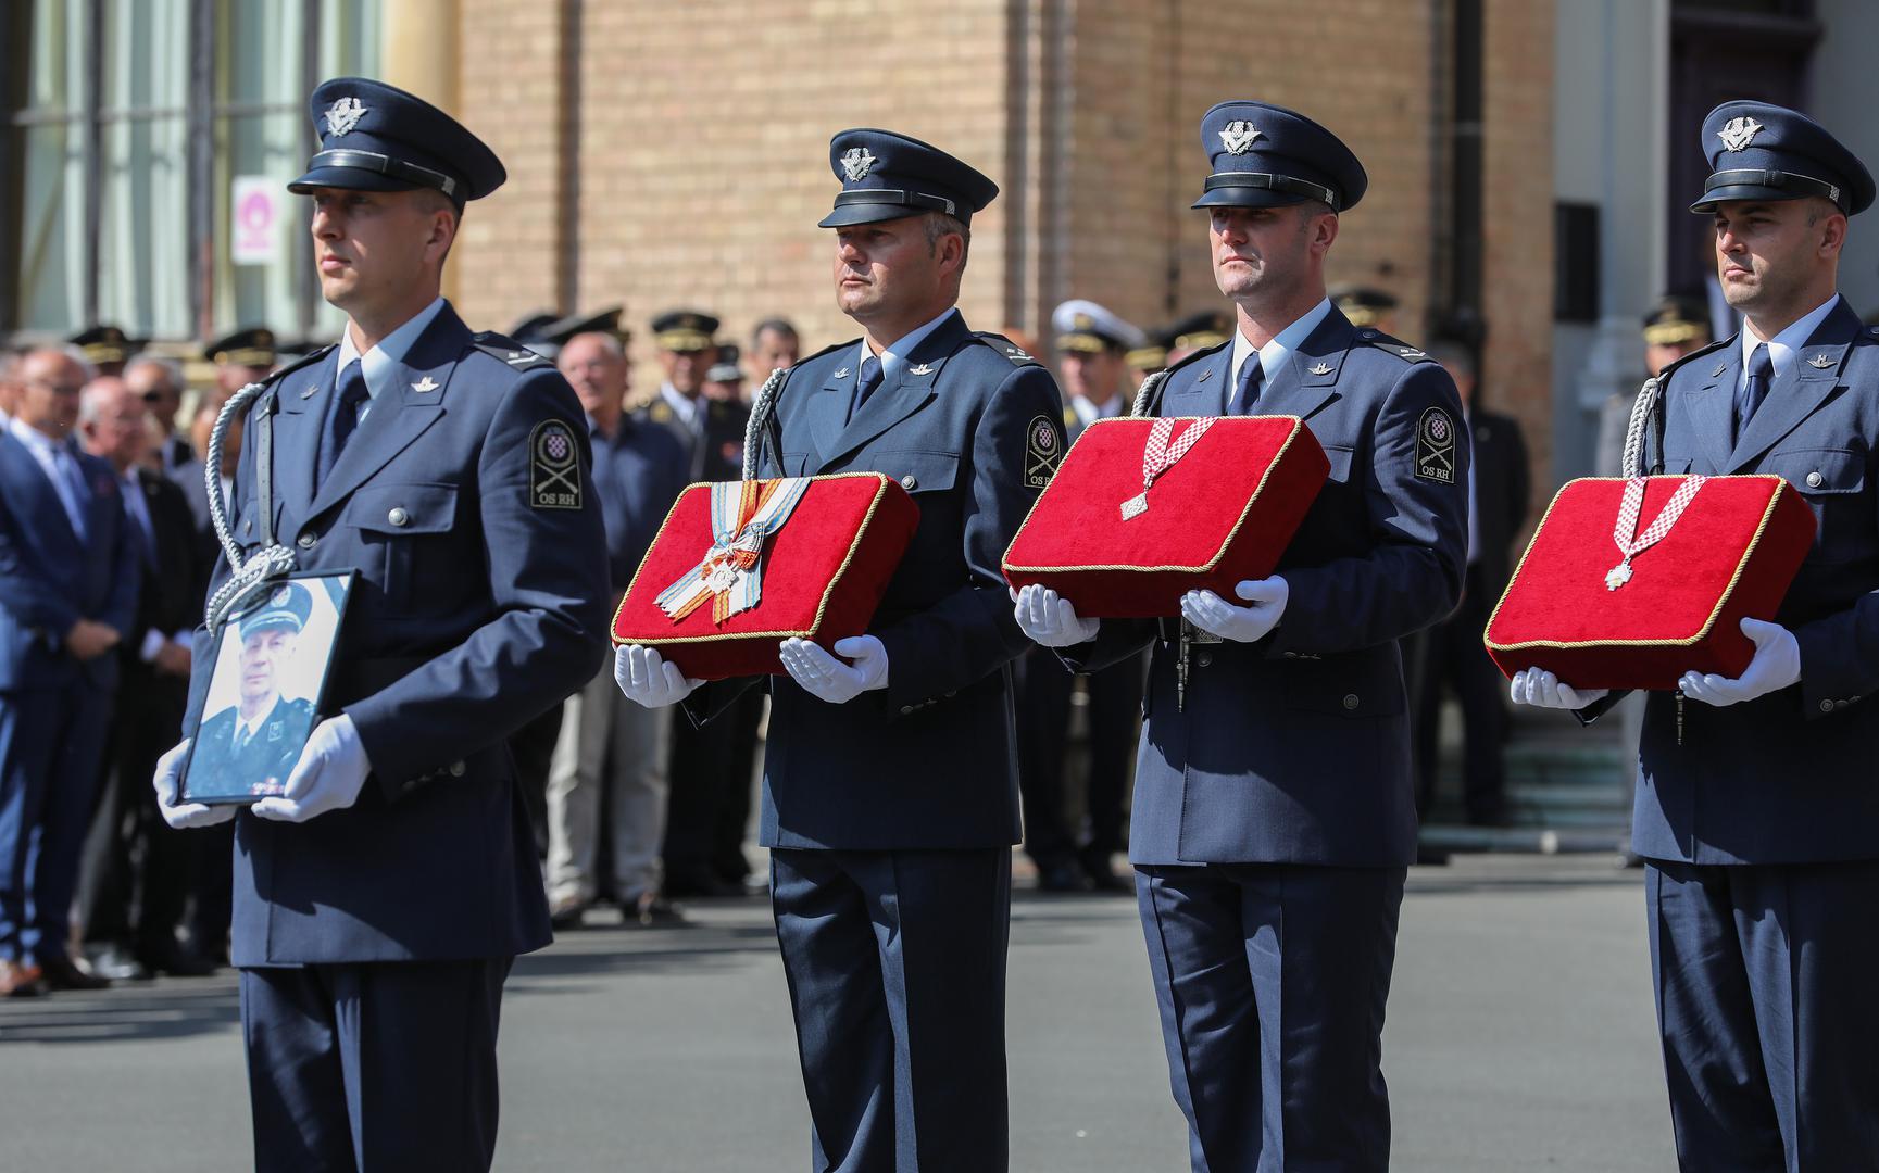
[[1404, 867], [1135, 865], [1193, 1173], [1383, 1173]]

